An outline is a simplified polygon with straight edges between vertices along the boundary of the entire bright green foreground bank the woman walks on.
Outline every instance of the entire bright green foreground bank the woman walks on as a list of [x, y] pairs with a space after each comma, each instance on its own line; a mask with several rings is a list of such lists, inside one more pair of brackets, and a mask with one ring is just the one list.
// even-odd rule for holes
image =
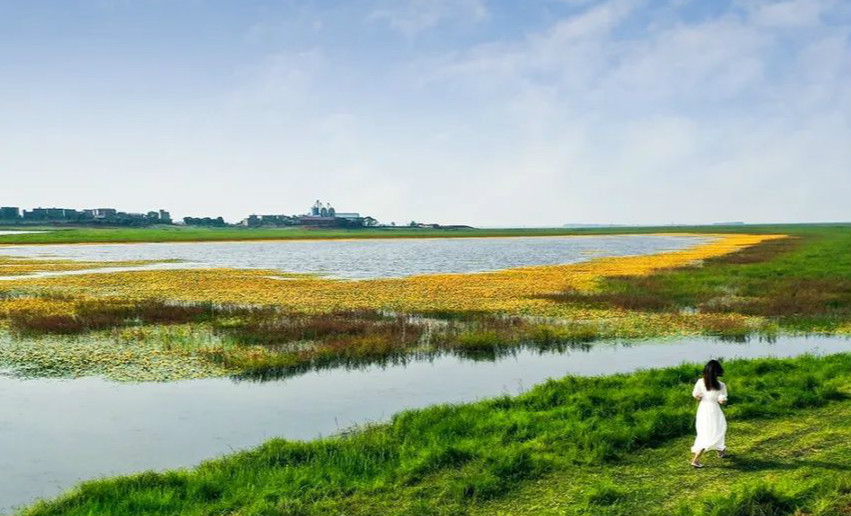
[[23, 514], [847, 510], [851, 355], [725, 368], [733, 453], [702, 471], [686, 462], [699, 369], [681, 366], [550, 381], [517, 397], [404, 412], [335, 438], [272, 440], [193, 470], [88, 482]]

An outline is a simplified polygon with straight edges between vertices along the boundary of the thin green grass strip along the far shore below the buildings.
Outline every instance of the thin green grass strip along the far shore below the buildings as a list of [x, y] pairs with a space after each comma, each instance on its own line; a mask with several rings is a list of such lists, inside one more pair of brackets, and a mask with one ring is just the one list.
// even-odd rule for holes
[[426, 229], [426, 228], [197, 228], [155, 226], [149, 228], [69, 228], [7, 227], [0, 229], [41, 230], [43, 233], [0, 235], [2, 244], [77, 244], [130, 242], [203, 242], [227, 240], [310, 240], [349, 238], [470, 238], [562, 235], [613, 235], [647, 233], [785, 233], [809, 231], [811, 228], [844, 227], [851, 224], [763, 224], [737, 226], [648, 226], [614, 228], [494, 228], [494, 229]]

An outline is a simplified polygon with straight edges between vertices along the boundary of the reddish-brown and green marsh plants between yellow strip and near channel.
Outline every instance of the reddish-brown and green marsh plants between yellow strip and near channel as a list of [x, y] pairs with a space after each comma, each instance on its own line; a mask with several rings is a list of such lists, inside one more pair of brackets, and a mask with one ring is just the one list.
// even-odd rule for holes
[[597, 336], [593, 325], [488, 314], [447, 321], [375, 310], [304, 314], [160, 300], [58, 301], [67, 310], [9, 314], [0, 364], [24, 376], [146, 381], [180, 379], [183, 372], [185, 378], [272, 379], [445, 353], [494, 360], [522, 347], [566, 349]]

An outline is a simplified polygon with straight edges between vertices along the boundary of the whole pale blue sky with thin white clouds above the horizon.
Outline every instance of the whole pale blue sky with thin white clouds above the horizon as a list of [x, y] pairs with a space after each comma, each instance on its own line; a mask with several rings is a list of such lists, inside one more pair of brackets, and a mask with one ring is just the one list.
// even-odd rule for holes
[[0, 205], [851, 219], [847, 0], [0, 0]]

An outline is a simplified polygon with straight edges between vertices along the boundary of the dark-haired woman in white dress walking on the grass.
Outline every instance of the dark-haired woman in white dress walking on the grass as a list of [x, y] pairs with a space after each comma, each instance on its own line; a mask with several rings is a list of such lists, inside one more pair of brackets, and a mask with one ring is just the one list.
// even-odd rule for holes
[[727, 437], [727, 419], [721, 411], [721, 405], [727, 403], [727, 386], [718, 379], [724, 374], [724, 368], [717, 360], [710, 360], [703, 368], [703, 378], [694, 384], [691, 395], [699, 401], [697, 404], [697, 438], [691, 447], [694, 457], [691, 465], [702, 468], [700, 457], [707, 450], [717, 450], [718, 456], [723, 457], [727, 446], [724, 439]]

